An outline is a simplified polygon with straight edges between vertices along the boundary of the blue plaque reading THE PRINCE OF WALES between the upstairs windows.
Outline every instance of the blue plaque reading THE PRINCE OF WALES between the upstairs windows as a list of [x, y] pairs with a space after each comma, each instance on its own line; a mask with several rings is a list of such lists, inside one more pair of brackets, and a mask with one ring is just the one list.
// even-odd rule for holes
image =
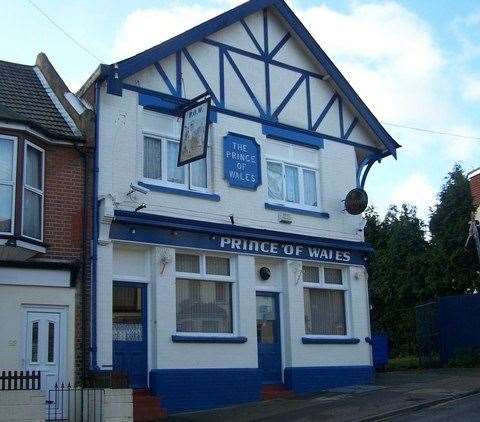
[[262, 184], [260, 145], [255, 138], [229, 132], [223, 138], [223, 171], [230, 186], [257, 190]]

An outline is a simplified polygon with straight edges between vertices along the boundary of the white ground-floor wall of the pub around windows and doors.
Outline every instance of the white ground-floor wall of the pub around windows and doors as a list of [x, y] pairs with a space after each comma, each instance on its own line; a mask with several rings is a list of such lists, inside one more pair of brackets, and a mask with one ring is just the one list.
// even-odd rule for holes
[[[169, 257], [163, 266], [159, 257]], [[176, 333], [175, 249], [142, 247], [115, 242], [115, 280], [148, 283], [149, 368], [256, 368], [256, 291], [278, 292], [283, 367], [371, 365], [366, 281], [361, 267], [348, 268], [349, 291], [346, 306], [350, 315], [351, 337], [359, 344], [303, 344], [305, 336], [302, 261], [265, 259], [232, 255], [236, 282], [233, 289], [234, 335], [247, 337], [243, 344], [174, 343]], [[258, 270], [271, 270], [268, 281]], [[136, 272], [132, 271], [136, 268]], [[147, 276], [145, 277], [145, 269]], [[125, 275], [122, 275], [125, 274]]]

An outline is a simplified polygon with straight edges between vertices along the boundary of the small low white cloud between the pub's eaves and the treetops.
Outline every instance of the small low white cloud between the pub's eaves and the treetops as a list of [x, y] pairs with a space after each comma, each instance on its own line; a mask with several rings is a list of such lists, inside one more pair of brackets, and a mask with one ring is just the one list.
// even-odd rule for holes
[[415, 205], [418, 216], [424, 221], [428, 221], [430, 208], [435, 201], [435, 189], [421, 173], [412, 174], [394, 187], [390, 196], [390, 203]]

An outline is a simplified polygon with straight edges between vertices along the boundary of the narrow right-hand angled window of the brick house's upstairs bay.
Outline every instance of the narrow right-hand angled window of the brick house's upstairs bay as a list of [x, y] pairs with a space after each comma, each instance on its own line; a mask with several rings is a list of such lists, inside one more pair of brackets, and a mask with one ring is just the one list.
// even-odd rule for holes
[[43, 237], [44, 151], [25, 142], [22, 234], [36, 240]]

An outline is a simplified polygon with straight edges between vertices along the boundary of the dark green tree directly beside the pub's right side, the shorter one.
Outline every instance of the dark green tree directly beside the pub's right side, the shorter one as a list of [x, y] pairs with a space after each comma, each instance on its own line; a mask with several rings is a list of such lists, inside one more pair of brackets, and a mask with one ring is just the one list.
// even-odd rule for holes
[[416, 208], [388, 210], [383, 221], [366, 212], [365, 239], [375, 248], [369, 259], [373, 331], [388, 334], [394, 355], [415, 349], [415, 305], [425, 297], [425, 227]]

